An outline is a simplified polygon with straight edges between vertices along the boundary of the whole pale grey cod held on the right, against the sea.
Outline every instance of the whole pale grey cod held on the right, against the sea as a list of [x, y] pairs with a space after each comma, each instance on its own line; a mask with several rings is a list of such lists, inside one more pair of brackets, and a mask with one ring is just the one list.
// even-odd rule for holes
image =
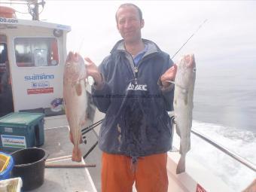
[[185, 171], [185, 158], [190, 150], [190, 131], [192, 126], [194, 84], [196, 80], [196, 63], [194, 54], [183, 56], [177, 64], [174, 92], [174, 114], [176, 133], [180, 137], [181, 154], [176, 173]]

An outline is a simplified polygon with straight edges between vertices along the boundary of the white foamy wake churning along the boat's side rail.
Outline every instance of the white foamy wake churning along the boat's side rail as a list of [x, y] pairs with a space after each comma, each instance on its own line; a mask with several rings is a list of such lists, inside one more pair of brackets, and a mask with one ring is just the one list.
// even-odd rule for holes
[[[234, 127], [221, 126], [213, 123], [193, 121], [193, 130], [203, 133], [224, 148], [244, 157], [251, 163], [256, 162], [256, 134], [249, 130], [239, 130]], [[242, 163], [229, 157], [224, 152], [207, 144], [191, 133], [190, 157], [197, 160], [209, 172], [221, 178], [233, 191], [241, 191], [256, 178], [256, 173]]]

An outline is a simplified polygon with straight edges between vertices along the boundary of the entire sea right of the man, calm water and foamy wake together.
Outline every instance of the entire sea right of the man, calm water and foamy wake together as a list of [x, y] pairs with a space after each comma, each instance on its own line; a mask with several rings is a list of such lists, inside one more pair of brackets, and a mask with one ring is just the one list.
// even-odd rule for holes
[[[193, 114], [194, 130], [256, 165], [254, 61], [199, 62]], [[206, 145], [194, 134], [191, 134], [189, 153], [234, 191], [241, 191], [256, 178], [254, 171]]]

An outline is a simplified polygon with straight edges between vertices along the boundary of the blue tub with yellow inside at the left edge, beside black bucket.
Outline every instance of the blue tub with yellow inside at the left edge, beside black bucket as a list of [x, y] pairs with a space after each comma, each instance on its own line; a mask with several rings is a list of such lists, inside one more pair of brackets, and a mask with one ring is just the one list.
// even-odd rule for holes
[[[9, 154], [0, 152], [0, 180], [10, 178], [14, 167], [14, 159]], [[1, 191], [1, 190], [0, 190]]]

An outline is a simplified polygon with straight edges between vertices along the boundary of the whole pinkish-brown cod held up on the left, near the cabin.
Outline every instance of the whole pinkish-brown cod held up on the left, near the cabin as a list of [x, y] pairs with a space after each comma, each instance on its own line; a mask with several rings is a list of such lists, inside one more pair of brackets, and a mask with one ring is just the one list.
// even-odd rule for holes
[[69, 122], [69, 139], [74, 145], [72, 161], [81, 161], [81, 127], [86, 123], [87, 94], [86, 68], [84, 59], [78, 53], [69, 52], [63, 77], [63, 98], [66, 117]]

